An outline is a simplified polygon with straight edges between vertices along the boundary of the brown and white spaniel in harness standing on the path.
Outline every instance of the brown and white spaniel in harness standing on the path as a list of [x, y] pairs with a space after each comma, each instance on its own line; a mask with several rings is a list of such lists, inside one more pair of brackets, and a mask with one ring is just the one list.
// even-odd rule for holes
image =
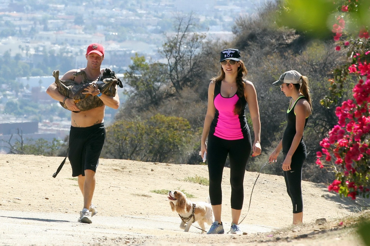
[[[211, 204], [207, 202], [191, 202], [184, 193], [179, 190], [169, 191], [168, 201], [172, 211], [177, 212], [181, 218], [180, 228], [189, 231], [191, 224], [196, 221], [205, 232], [204, 223], [211, 225], [213, 212]], [[186, 224], [186, 225], [185, 225]]]

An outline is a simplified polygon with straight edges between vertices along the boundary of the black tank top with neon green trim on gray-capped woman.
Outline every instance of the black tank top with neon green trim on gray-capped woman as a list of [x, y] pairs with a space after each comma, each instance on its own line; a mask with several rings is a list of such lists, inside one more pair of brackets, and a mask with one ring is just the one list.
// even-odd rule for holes
[[[289, 152], [289, 149], [290, 149], [290, 146], [292, 145], [294, 136], [296, 135], [296, 114], [294, 113], [294, 108], [296, 107], [297, 102], [301, 99], [306, 99], [307, 100], [307, 98], [304, 97], [304, 96], [298, 97], [298, 99], [294, 103], [293, 107], [289, 110], [290, 105], [292, 104], [292, 102], [290, 102], [288, 110], [286, 111], [285, 118], [286, 118], [286, 121], [288, 122], [288, 124], [285, 128], [284, 135], [283, 135], [283, 142], [282, 142], [282, 144], [283, 144], [283, 153], [288, 153]], [[309, 117], [306, 118], [305, 128], [306, 128], [308, 119], [309, 119]], [[300, 141], [296, 151], [297, 150], [306, 152], [306, 146], [305, 146], [305, 143], [303, 142], [303, 136], [301, 138], [301, 141]]]

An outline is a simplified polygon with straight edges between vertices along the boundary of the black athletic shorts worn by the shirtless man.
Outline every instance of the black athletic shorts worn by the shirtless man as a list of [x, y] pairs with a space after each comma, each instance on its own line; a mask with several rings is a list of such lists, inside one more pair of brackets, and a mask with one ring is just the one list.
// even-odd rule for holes
[[85, 176], [86, 169], [96, 171], [104, 140], [103, 122], [91, 127], [71, 126], [68, 159], [72, 166], [72, 177], [80, 174]]

